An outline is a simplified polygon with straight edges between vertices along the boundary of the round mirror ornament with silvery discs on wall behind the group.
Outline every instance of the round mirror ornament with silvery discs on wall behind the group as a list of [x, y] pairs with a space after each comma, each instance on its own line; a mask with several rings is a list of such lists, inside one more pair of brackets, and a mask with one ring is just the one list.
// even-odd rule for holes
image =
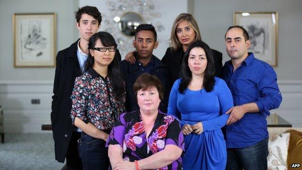
[[160, 22], [154, 19], [161, 17], [155, 11], [152, 0], [107, 0], [110, 14], [102, 13], [102, 27], [115, 38], [122, 58], [133, 51], [135, 29], [139, 24], [152, 24], [156, 31], [164, 31]]

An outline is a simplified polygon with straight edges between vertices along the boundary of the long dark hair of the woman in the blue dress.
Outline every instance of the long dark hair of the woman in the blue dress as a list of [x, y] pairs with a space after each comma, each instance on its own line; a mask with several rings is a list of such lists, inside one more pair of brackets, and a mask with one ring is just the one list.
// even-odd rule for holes
[[203, 41], [197, 40], [196, 42], [193, 42], [187, 48], [186, 52], [184, 53], [182, 62], [181, 62], [181, 84], [179, 86], [179, 91], [182, 94], [184, 93], [184, 91], [186, 90], [186, 88], [188, 87], [189, 83], [192, 80], [192, 72], [188, 65], [188, 58], [189, 58], [190, 51], [195, 47], [203, 48], [206, 52], [206, 57], [208, 60], [202, 85], [207, 92], [211, 92], [214, 88], [214, 84], [215, 84], [215, 78], [214, 78], [215, 66], [214, 65], [215, 64], [214, 64], [214, 58], [213, 58], [213, 55], [211, 52], [211, 48]]

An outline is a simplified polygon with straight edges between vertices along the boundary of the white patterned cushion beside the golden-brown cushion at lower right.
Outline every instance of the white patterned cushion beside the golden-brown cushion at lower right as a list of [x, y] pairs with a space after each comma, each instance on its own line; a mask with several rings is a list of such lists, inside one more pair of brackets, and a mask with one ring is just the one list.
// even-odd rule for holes
[[287, 170], [287, 150], [289, 133], [271, 135], [269, 138], [269, 170]]

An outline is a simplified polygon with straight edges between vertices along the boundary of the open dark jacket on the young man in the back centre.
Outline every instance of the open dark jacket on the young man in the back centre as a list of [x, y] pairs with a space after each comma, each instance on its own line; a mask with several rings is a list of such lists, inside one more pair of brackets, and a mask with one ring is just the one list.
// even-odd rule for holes
[[[171, 91], [171, 82], [168, 67], [154, 55], [154, 69], [151, 70], [151, 75], [157, 76], [163, 83], [165, 88], [164, 100], [162, 100], [159, 108], [161, 111], [167, 111], [169, 94]], [[120, 62], [121, 72], [126, 83], [126, 110], [127, 112], [137, 110], [136, 96], [134, 96], [133, 85], [137, 77], [141, 74], [136, 63], [130, 64], [125, 60]]]

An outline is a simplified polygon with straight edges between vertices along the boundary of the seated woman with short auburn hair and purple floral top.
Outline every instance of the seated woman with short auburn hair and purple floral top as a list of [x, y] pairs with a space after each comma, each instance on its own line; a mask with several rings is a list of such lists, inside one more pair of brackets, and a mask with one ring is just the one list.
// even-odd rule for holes
[[107, 141], [112, 169], [181, 170], [183, 135], [174, 116], [158, 111], [161, 81], [143, 73], [133, 89], [139, 110], [121, 114]]

